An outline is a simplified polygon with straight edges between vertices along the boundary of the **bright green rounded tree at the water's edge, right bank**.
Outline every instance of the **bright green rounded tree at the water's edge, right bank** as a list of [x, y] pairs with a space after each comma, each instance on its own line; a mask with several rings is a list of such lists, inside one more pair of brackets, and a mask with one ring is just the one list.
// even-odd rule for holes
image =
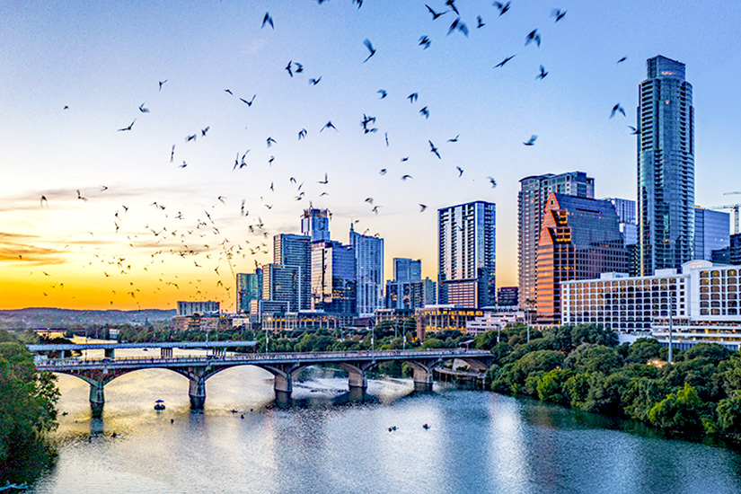
[[677, 432], [700, 432], [703, 403], [697, 390], [685, 383], [684, 388], [659, 401], [648, 413], [648, 419], [659, 428]]

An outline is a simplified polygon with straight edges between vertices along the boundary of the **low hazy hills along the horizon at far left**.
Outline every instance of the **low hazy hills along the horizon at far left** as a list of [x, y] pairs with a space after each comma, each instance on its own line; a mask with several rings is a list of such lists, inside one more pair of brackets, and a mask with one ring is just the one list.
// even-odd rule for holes
[[14, 311], [0, 311], [0, 327], [5, 328], [67, 328], [92, 324], [144, 324], [163, 321], [177, 311], [148, 309], [144, 311], [77, 311], [31, 307]]

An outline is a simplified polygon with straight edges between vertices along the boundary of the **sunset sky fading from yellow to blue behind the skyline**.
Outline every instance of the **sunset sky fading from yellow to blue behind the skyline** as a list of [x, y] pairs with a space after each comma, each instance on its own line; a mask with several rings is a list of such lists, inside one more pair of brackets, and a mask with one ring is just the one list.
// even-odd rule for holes
[[516, 285], [522, 178], [578, 170], [597, 198], [635, 198], [628, 126], [657, 54], [693, 86], [696, 203], [737, 202], [741, 3], [512, 0], [499, 15], [456, 0], [468, 36], [428, 5], [448, 12], [0, 2], [0, 308], [234, 310], [234, 274], [270, 262], [272, 235], [299, 233], [310, 204], [331, 210], [335, 240], [351, 223], [383, 237], [387, 278], [393, 257], [437, 278], [437, 208], [494, 202], [497, 284]]

